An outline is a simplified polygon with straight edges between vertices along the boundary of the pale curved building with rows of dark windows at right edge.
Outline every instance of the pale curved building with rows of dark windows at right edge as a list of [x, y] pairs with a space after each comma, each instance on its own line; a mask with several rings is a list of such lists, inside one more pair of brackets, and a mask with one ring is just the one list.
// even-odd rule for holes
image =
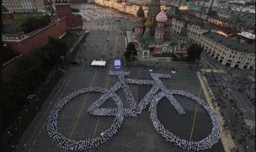
[[221, 65], [255, 70], [255, 44], [208, 32], [202, 34], [200, 45]]

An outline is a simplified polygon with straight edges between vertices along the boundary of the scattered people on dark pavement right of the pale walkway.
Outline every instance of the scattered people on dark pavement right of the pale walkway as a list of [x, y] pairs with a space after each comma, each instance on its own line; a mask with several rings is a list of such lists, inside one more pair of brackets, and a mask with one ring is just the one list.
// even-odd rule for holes
[[[232, 76], [232, 79], [230, 76]], [[245, 116], [248, 117], [249, 113], [243, 112], [241, 107], [241, 102], [243, 101], [237, 99], [240, 96], [235, 97], [232, 93], [236, 92], [236, 90], [238, 91], [237, 93], [241, 94], [250, 92], [251, 96], [255, 97], [255, 86], [253, 86], [255, 82], [249, 81], [248, 75], [238, 70], [230, 70], [228, 74], [206, 73], [205, 77], [208, 81], [208, 87], [211, 87], [213, 92], [211, 99], [214, 105], [221, 107], [221, 115], [226, 119], [224, 129], [228, 129], [232, 134], [232, 139], [234, 139], [237, 149], [247, 150], [248, 145], [250, 145], [250, 148], [255, 149], [255, 130], [245, 123], [245, 119], [248, 119]], [[208, 91], [210, 90], [210, 88], [207, 89]], [[243, 91], [239, 92], [239, 89], [243, 89]], [[243, 100], [246, 99], [243, 98]], [[255, 109], [253, 102], [250, 108]]]

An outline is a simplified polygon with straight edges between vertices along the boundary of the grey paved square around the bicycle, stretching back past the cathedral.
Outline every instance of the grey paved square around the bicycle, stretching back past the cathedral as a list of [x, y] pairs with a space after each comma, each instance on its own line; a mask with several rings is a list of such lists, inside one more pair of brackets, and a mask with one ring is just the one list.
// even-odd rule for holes
[[[79, 66], [72, 66], [66, 72], [56, 86], [56, 92], [52, 92], [49, 99], [37, 114], [35, 120], [29, 126], [28, 130], [20, 140], [16, 151], [65, 151], [51, 142], [46, 132], [46, 121], [52, 107], [61, 97], [77, 89], [88, 86], [102, 86], [109, 88], [117, 81], [116, 77], [109, 77], [108, 71], [113, 70], [113, 63], [108, 64], [106, 68], [89, 67], [90, 60], [103, 59], [113, 60], [120, 58], [125, 51], [124, 30], [131, 29], [134, 18], [125, 16], [125, 14], [115, 13], [112, 10], [101, 9], [92, 5], [81, 6], [84, 15], [87, 15], [91, 21], [86, 22], [90, 29], [90, 34], [83, 44], [82, 49], [78, 51], [75, 60], [80, 63]], [[89, 15], [88, 15], [89, 14]], [[98, 15], [96, 15], [98, 14]], [[122, 18], [121, 22], [116, 18]], [[104, 23], [101, 19], [104, 19]], [[124, 28], [125, 27], [125, 28]], [[109, 62], [111, 63], [111, 62]], [[147, 65], [147, 63], [146, 63]], [[183, 65], [183, 64], [181, 64]], [[173, 64], [179, 69], [178, 63]], [[147, 66], [122, 66], [122, 71], [130, 71], [130, 78], [150, 79]], [[168, 66], [157, 66], [155, 72], [169, 73]], [[205, 100], [204, 94], [200, 93], [200, 82], [195, 71], [191, 71], [186, 66], [178, 70], [176, 75], [170, 80], [163, 80], [163, 83], [172, 89], [185, 90], [194, 93]], [[131, 92], [136, 101], [150, 89], [150, 86], [131, 86]], [[123, 101], [125, 96], [123, 92], [117, 92]], [[67, 107], [64, 108], [60, 115], [58, 126], [60, 132], [70, 139], [83, 139], [84, 137], [99, 136], [106, 128], [109, 128], [114, 118], [112, 117], [93, 117], [87, 113], [88, 106], [100, 97], [100, 94], [88, 94], [76, 97]], [[205, 110], [198, 107], [183, 97], [176, 97], [180, 104], [186, 110], [186, 114], [181, 118], [167, 100], [163, 100], [158, 105], [157, 114], [164, 126], [172, 130], [174, 134], [185, 139], [199, 140], [210, 133], [211, 121]], [[104, 107], [114, 107], [113, 101], [109, 100]], [[124, 107], [127, 107], [124, 102]], [[197, 108], [198, 107], [198, 108]], [[196, 110], [195, 110], [196, 109]], [[139, 131], [138, 131], [139, 130]], [[141, 113], [137, 118], [125, 118], [120, 131], [115, 134], [106, 144], [99, 146], [97, 149], [89, 151], [187, 151], [179, 149], [177, 146], [166, 142], [163, 137], [156, 133], [152, 127], [147, 110]], [[221, 140], [212, 149], [205, 151], [222, 152], [224, 149]]]

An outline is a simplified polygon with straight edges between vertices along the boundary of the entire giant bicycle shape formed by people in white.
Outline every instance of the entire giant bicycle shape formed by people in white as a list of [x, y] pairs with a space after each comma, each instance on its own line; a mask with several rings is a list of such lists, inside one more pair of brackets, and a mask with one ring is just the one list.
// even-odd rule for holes
[[[109, 89], [102, 87], [85, 87], [83, 89], [72, 92], [67, 97], [63, 97], [60, 102], [56, 103], [56, 106], [51, 111], [51, 114], [47, 122], [47, 132], [51, 140], [58, 145], [61, 149], [67, 149], [71, 151], [83, 151], [85, 149], [93, 149], [98, 147], [100, 144], [104, 144], [107, 140], [112, 138], [114, 134], [120, 128], [121, 123], [125, 117], [137, 117], [138, 114], [150, 104], [149, 113], [152, 120], [153, 127], [156, 129], [158, 134], [162, 134], [163, 138], [168, 142], [173, 143], [174, 145], [179, 146], [182, 149], [189, 150], [203, 150], [210, 149], [214, 144], [218, 142], [221, 138], [221, 126], [217, 121], [215, 113], [211, 111], [211, 108], [199, 97], [196, 97], [194, 94], [189, 92], [184, 92], [180, 90], [168, 90], [164, 86], [163, 82], [159, 78], [170, 78], [170, 75], [167, 74], [150, 74], [153, 80], [136, 80], [136, 79], [125, 79], [125, 76], [130, 76], [130, 73], [127, 71], [109, 71], [109, 76], [118, 76], [120, 82], [116, 82], [114, 86]], [[152, 89], [147, 92], [145, 97], [136, 105], [134, 97], [131, 94], [131, 90], [127, 84], [136, 84], [136, 85], [151, 85]], [[120, 97], [115, 93], [119, 89], [123, 89], [125, 92], [125, 97], [127, 102], [129, 102], [130, 108], [124, 108], [123, 102]], [[106, 129], [99, 137], [88, 138], [83, 140], [74, 140], [68, 139], [63, 134], [59, 132], [57, 126], [57, 120], [61, 110], [67, 105], [68, 102], [72, 101], [77, 96], [83, 95], [88, 92], [101, 92], [103, 95], [99, 97], [95, 102], [88, 107], [88, 113], [93, 116], [114, 116], [115, 120], [111, 126]], [[183, 97], [189, 97], [190, 99], [198, 102], [205, 111], [209, 114], [211, 118], [211, 134], [209, 134], [205, 139], [200, 141], [188, 141], [182, 139], [179, 136], [169, 132], [166, 128], [163, 127], [163, 124], [160, 123], [157, 118], [157, 103], [163, 98], [167, 97], [168, 101], [171, 102], [173, 107], [177, 110], [179, 114], [184, 114], [184, 108], [181, 107], [179, 102], [173, 97], [173, 95], [179, 95]], [[115, 108], [103, 108], [101, 107], [104, 102], [109, 98], [112, 98], [115, 102]]]

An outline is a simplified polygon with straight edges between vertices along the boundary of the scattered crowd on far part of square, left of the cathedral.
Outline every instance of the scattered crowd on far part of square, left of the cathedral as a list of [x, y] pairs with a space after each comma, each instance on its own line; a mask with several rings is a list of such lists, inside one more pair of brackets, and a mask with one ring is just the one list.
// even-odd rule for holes
[[[87, 18], [86, 29], [89, 29], [91, 35], [93, 34], [93, 37], [97, 39], [97, 43], [84, 45], [81, 52], [77, 54], [77, 63], [84, 65], [84, 68], [81, 66], [77, 68], [81, 71], [87, 68], [93, 58], [99, 60], [100, 57], [100, 59], [106, 60], [107, 63], [113, 61], [114, 56], [121, 58], [125, 52], [125, 31], [133, 28], [135, 17], [131, 18], [125, 14], [114, 12], [114, 10], [100, 8], [91, 4], [79, 5], [75, 6], [75, 8], [79, 8], [82, 17]], [[113, 37], [113, 35], [115, 36]], [[105, 37], [108, 36], [109, 38], [106, 39]], [[115, 39], [122, 39], [123, 43], [115, 45], [113, 44]], [[102, 50], [103, 54], [93, 54], [95, 50]], [[113, 50], [116, 50], [116, 52], [113, 53]], [[89, 55], [86, 55], [87, 53]], [[92, 59], [86, 60], [85, 57], [88, 56]]]

